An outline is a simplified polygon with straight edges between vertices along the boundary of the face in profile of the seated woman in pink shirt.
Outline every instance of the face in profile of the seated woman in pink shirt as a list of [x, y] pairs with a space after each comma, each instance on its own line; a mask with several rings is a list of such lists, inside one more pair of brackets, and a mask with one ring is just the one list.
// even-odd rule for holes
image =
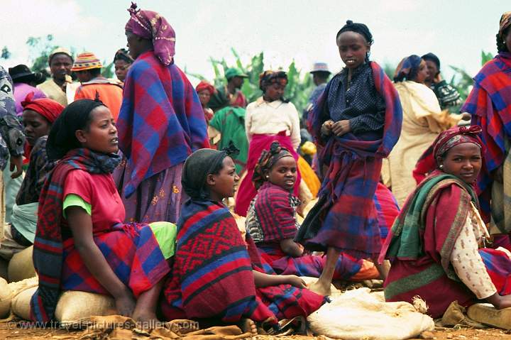
[[110, 110], [98, 106], [92, 110], [92, 121], [88, 130], [77, 130], [77, 139], [84, 148], [99, 153], [116, 153], [119, 150], [117, 128]]

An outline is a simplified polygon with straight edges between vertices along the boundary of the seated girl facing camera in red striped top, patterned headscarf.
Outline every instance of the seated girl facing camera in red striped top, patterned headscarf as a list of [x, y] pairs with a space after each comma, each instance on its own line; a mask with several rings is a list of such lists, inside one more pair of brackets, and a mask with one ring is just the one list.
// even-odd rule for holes
[[[300, 227], [296, 220], [300, 200], [292, 194], [296, 180], [297, 162], [287, 148], [273, 142], [270, 150], [263, 150], [252, 177], [258, 194], [248, 208], [246, 229], [261, 257], [277, 273], [319, 278], [326, 258], [304, 253], [294, 241]], [[339, 256], [334, 270], [334, 280], [378, 277], [373, 263], [345, 254]]]

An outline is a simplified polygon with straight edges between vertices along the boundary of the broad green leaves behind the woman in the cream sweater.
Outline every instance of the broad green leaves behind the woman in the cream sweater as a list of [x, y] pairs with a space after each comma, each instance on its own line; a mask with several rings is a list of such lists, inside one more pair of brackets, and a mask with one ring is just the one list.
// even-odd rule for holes
[[[243, 82], [241, 92], [243, 92], [243, 94], [246, 96], [249, 103], [253, 102], [255, 99], [258, 99], [258, 97], [263, 95], [263, 92], [259, 89], [259, 75], [265, 70], [264, 53], [261, 52], [258, 55], [254, 55], [250, 62], [248, 62], [246, 65], [243, 65], [243, 62], [241, 61], [241, 58], [239, 57], [236, 50], [231, 48], [231, 53], [235, 58], [234, 65], [228, 65], [225, 59], [216, 60], [212, 57], [209, 59], [214, 71], [214, 86], [221, 87], [226, 85], [227, 79], [224, 77], [225, 71], [229, 67], [238, 67], [240, 70], [246, 73], [246, 75], [248, 75], [248, 79]], [[285, 70], [285, 68], [279, 67], [279, 70]], [[187, 73], [193, 77], [197, 77], [198, 79], [205, 79], [202, 75], [189, 72]], [[287, 67], [287, 79], [288, 82], [284, 97], [295, 104], [297, 110], [301, 112], [307, 105], [309, 94], [314, 89], [312, 77], [308, 72], [302, 75], [302, 72], [297, 69], [295, 61], [293, 60]]]

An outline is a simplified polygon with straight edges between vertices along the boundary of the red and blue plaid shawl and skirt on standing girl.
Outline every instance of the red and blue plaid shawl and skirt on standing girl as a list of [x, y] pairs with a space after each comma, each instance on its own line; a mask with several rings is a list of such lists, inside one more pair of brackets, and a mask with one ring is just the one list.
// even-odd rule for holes
[[[318, 203], [311, 209], [297, 234], [297, 241], [315, 251], [337, 248], [355, 258], [377, 258], [381, 248], [378, 216], [373, 201], [382, 158], [399, 139], [402, 125], [400, 98], [390, 79], [370, 62], [375, 88], [385, 99], [383, 137], [364, 140], [353, 133], [332, 136], [319, 155], [327, 166]], [[321, 127], [329, 117], [330, 83], [309, 114], [309, 131], [321, 141]]]

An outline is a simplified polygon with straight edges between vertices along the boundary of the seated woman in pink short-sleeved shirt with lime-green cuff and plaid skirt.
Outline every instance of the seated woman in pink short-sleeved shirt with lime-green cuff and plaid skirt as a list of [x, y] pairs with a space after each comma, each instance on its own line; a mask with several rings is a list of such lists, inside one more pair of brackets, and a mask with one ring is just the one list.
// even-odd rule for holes
[[[104, 104], [81, 99], [67, 106], [48, 136], [48, 174], [39, 199], [33, 260], [39, 276], [31, 318], [55, 317], [60, 290], [114, 297], [117, 313], [155, 320], [163, 278], [170, 268], [170, 226], [123, 224], [125, 211], [111, 172], [119, 165], [117, 130]], [[163, 237], [160, 237], [163, 236]]]

